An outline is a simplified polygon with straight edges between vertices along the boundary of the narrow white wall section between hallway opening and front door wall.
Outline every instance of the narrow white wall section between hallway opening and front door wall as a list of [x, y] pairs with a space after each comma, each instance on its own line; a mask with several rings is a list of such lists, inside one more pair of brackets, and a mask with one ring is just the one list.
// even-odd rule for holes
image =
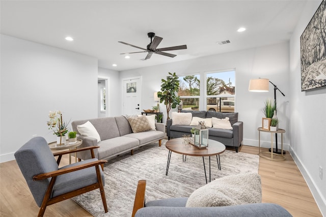
[[98, 68], [98, 76], [108, 78], [108, 90], [106, 92], [106, 108], [108, 109], [107, 116], [113, 117], [122, 115], [120, 91], [121, 79], [119, 78], [119, 72]]

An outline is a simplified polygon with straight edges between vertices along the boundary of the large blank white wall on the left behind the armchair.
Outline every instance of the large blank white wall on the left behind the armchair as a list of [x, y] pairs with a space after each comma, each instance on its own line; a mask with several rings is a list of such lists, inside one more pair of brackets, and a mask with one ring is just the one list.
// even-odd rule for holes
[[56, 140], [50, 110], [66, 121], [97, 117], [97, 59], [1, 35], [0, 161], [33, 135]]

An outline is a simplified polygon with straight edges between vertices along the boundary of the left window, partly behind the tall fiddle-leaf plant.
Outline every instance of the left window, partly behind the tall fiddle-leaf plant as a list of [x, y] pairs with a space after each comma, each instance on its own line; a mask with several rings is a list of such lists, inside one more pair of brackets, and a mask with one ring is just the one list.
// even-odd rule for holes
[[179, 76], [180, 88], [178, 96], [182, 101], [182, 109], [199, 110], [200, 81], [199, 75]]

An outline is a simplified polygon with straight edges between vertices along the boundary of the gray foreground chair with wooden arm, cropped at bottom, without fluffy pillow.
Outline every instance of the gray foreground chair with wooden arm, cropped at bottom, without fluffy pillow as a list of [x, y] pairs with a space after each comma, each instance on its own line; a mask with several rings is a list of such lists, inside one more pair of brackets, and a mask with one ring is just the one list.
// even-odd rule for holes
[[292, 215], [278, 204], [252, 203], [217, 207], [186, 207], [188, 198], [168, 198], [149, 201], [145, 204], [146, 180], [139, 180], [132, 217], [291, 217]]

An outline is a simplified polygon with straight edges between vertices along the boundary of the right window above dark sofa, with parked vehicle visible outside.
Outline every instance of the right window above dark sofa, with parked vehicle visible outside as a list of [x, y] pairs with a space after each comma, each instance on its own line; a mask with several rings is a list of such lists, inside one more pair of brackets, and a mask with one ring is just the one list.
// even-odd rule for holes
[[206, 73], [206, 110], [234, 112], [235, 71]]

